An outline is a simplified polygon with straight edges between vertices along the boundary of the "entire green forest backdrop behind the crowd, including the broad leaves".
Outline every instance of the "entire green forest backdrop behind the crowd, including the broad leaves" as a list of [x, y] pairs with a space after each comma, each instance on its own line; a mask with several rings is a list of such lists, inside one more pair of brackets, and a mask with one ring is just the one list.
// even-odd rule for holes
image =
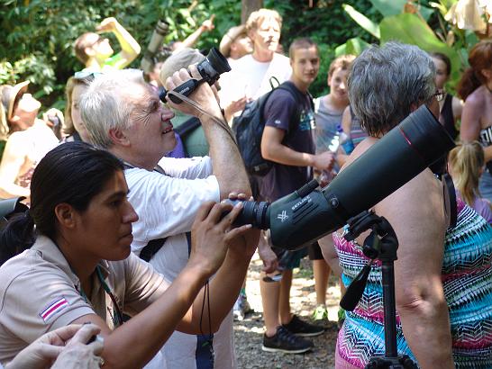
[[[141, 55], [159, 20], [169, 23], [164, 41], [184, 40], [215, 14], [213, 31], [196, 48], [217, 46], [223, 34], [241, 23], [245, 4], [263, 3], [283, 16], [281, 43], [288, 49], [297, 37], [310, 37], [321, 51], [314, 96], [327, 93], [326, 73], [336, 54], [358, 54], [370, 43], [401, 40], [428, 51], [440, 50], [455, 67], [451, 89], [466, 67], [468, 49], [478, 41], [473, 31], [458, 30], [444, 20], [457, 0], [0, 0], [0, 85], [30, 80], [30, 91], [43, 105], [62, 108], [69, 76], [83, 66], [73, 42], [114, 16], [141, 45]], [[244, 13], [244, 11], [243, 11]], [[117, 52], [117, 41], [109, 37]], [[140, 67], [141, 55], [130, 67]]]

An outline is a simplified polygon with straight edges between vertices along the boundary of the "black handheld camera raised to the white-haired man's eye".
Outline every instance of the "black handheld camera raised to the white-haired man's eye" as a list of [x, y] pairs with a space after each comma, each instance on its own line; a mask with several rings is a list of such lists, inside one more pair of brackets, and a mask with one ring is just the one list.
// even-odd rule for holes
[[[212, 48], [205, 59], [196, 65], [196, 69], [198, 69], [198, 73], [200, 73], [202, 79], [192, 78], [184, 84], [178, 85], [178, 87], [176, 87], [173, 91], [176, 91], [178, 94], [189, 96], [193, 91], [195, 91], [196, 87], [203, 82], [207, 82], [209, 85], [214, 85], [220, 75], [231, 70], [231, 66], [218, 49]], [[166, 94], [166, 90], [159, 94], [159, 98], [163, 103], [166, 102]], [[172, 94], [169, 94], [169, 99], [173, 103], [182, 103], [182, 100], [178, 96], [174, 96]]]

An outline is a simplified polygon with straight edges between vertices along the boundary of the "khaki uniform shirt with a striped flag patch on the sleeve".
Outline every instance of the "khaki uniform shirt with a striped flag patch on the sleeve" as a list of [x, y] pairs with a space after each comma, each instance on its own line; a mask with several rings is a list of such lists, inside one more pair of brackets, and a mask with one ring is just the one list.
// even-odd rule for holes
[[[101, 261], [105, 284], [120, 311], [134, 315], [164, 293], [169, 283], [133, 254], [121, 261]], [[40, 236], [31, 249], [0, 267], [0, 362], [12, 360], [44, 333], [97, 314], [114, 329], [114, 304], [96, 273], [89, 301], [59, 248]]]

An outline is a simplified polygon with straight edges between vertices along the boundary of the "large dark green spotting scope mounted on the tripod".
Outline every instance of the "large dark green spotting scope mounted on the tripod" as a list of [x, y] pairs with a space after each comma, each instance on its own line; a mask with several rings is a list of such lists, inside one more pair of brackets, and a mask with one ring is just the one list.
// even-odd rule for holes
[[276, 247], [304, 247], [394, 193], [453, 147], [422, 105], [323, 189], [313, 180], [275, 202], [244, 202], [235, 224], [270, 229]]

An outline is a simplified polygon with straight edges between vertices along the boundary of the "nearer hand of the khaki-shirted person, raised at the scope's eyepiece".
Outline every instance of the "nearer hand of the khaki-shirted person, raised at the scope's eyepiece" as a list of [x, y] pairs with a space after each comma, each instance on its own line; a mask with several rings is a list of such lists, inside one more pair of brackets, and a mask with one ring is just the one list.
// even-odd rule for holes
[[205, 275], [213, 275], [223, 264], [234, 238], [251, 229], [251, 224], [232, 227], [232, 222], [241, 211], [242, 202], [233, 207], [226, 202], [205, 202], [198, 210], [191, 228], [192, 248], [188, 263], [196, 263], [202, 267]]

